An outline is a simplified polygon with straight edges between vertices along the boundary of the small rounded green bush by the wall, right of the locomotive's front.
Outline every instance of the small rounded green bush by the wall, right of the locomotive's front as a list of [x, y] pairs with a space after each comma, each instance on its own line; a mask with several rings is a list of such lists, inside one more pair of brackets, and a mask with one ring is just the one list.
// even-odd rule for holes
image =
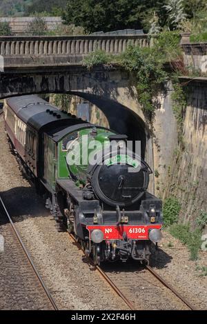
[[181, 205], [175, 197], [165, 199], [163, 205], [164, 225], [170, 226], [177, 223]]

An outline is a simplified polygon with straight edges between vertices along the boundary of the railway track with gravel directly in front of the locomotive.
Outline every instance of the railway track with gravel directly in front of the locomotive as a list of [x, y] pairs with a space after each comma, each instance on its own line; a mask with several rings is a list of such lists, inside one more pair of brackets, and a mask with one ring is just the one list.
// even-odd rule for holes
[[[84, 254], [75, 237], [69, 235]], [[86, 258], [130, 310], [196, 310], [175, 287], [172, 287], [149, 265], [141, 267], [133, 261], [112, 263], [112, 265], [108, 263], [100, 267], [94, 265], [92, 259], [87, 256]]]

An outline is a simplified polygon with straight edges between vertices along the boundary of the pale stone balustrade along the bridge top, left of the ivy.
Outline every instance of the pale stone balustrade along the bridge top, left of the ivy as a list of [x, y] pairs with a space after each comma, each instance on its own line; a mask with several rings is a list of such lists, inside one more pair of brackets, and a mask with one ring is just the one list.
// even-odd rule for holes
[[5, 66], [26, 64], [79, 63], [95, 50], [121, 54], [129, 45], [150, 45], [147, 34], [0, 37], [0, 55]]

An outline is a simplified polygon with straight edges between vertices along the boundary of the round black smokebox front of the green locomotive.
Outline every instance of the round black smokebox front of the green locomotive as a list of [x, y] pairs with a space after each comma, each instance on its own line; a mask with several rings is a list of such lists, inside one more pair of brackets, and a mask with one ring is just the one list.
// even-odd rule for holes
[[150, 172], [147, 163], [132, 152], [110, 152], [92, 169], [92, 188], [107, 205], [127, 207], [146, 192]]

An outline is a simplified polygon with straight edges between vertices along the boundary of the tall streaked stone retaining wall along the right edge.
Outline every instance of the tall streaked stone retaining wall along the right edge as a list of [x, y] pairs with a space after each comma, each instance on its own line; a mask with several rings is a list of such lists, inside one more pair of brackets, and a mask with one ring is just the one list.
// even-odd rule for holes
[[188, 106], [184, 117], [184, 150], [177, 147], [166, 194], [181, 202], [181, 218], [192, 224], [207, 212], [207, 79], [188, 81]]

